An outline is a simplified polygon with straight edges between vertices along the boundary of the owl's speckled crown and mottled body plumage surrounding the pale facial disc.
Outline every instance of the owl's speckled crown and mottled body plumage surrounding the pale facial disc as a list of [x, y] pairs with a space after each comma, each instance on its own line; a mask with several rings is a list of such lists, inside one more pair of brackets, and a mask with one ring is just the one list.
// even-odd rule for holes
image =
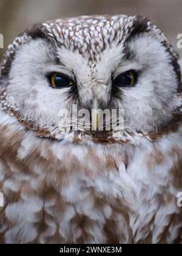
[[[9, 105], [7, 77], [16, 52], [46, 38], [78, 52], [89, 66], [114, 42], [140, 30], [169, 52], [181, 90], [177, 54], [164, 34], [140, 16], [81, 16], [36, 24], [17, 37], [1, 63], [0, 243], [181, 243], [181, 94], [157, 131], [123, 137], [54, 134]], [[46, 128], [46, 129], [45, 129]], [[60, 137], [61, 136], [61, 137]]]

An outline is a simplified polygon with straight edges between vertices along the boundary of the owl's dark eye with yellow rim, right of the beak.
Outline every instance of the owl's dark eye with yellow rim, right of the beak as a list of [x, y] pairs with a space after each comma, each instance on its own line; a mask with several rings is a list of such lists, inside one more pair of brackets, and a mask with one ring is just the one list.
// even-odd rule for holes
[[124, 74], [120, 74], [113, 80], [114, 85], [118, 85], [120, 87], [130, 87], [135, 85], [136, 83], [136, 72], [135, 71], [127, 71]]

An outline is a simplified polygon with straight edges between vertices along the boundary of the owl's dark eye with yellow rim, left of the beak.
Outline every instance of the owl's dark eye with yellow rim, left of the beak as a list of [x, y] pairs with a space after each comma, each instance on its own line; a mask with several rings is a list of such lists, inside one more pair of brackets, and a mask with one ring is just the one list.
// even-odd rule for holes
[[61, 74], [52, 74], [49, 76], [50, 86], [52, 88], [64, 88], [73, 85], [72, 80]]

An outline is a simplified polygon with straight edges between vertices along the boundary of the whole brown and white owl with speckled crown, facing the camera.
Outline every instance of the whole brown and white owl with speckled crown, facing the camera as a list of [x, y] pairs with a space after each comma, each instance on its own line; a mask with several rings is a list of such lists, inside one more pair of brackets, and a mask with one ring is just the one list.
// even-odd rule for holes
[[[149, 18], [35, 24], [8, 46], [0, 85], [1, 243], [182, 242], [181, 71]], [[69, 127], [73, 105], [122, 109], [123, 129]]]

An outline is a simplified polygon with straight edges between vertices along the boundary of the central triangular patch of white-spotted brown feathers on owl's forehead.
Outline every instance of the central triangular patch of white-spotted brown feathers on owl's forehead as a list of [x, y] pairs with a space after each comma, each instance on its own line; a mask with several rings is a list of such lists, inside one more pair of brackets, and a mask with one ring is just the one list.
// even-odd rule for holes
[[80, 16], [42, 23], [42, 30], [56, 44], [78, 50], [82, 55], [89, 54], [92, 59], [113, 43], [125, 41], [134, 19], [135, 16], [126, 15]]

